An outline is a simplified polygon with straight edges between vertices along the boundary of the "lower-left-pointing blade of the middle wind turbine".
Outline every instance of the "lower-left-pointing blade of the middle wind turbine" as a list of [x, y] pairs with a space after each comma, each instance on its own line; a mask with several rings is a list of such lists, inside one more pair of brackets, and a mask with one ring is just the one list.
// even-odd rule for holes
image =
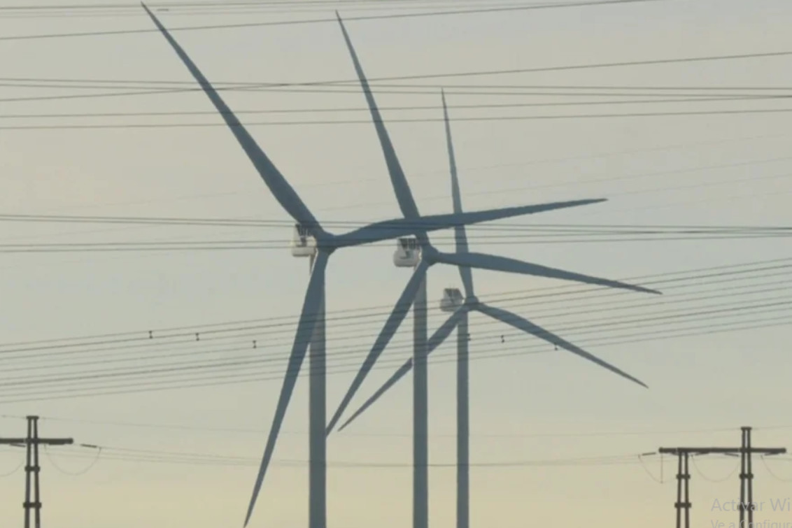
[[413, 304], [415, 295], [418, 293], [418, 287], [421, 286], [421, 281], [424, 280], [428, 267], [428, 262], [426, 260], [421, 260], [421, 263], [415, 268], [415, 272], [413, 272], [413, 276], [410, 277], [404, 291], [402, 291], [402, 294], [399, 296], [394, 310], [390, 312], [390, 315], [385, 321], [385, 326], [383, 326], [383, 329], [379, 332], [374, 346], [371, 348], [371, 351], [368, 352], [363, 365], [360, 366], [360, 370], [358, 370], [355, 375], [355, 379], [352, 380], [352, 385], [349, 386], [347, 393], [344, 395], [343, 400], [341, 400], [341, 405], [338, 406], [336, 413], [333, 415], [333, 419], [330, 420], [327, 425], [328, 435], [333, 431], [333, 427], [336, 426], [338, 420], [341, 420], [341, 415], [344, 414], [349, 402], [352, 401], [352, 397], [355, 396], [357, 389], [360, 389], [367, 374], [371, 371], [371, 368], [374, 367], [374, 363], [376, 363], [377, 359], [379, 359], [379, 355], [383, 353], [390, 338], [394, 336], [399, 325], [402, 324], [402, 321], [404, 321], [404, 318], [407, 316], [409, 307]]

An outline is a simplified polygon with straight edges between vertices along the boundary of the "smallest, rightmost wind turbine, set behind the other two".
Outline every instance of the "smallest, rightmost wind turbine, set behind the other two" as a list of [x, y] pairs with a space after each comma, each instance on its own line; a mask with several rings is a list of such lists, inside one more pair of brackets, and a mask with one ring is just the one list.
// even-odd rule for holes
[[[451, 196], [454, 203], [454, 212], [459, 214], [462, 212], [462, 199], [459, 192], [459, 179], [456, 172], [456, 163], [454, 158], [454, 147], [451, 142], [451, 126], [448, 123], [448, 111], [444, 94], [443, 99], [443, 112], [444, 122], [447, 137], [448, 148], [448, 161], [451, 168]], [[467, 236], [464, 226], [455, 227], [456, 239], [456, 254], [463, 255], [468, 253]], [[493, 306], [485, 305], [480, 302], [474, 293], [473, 287], [473, 274], [470, 268], [466, 266], [459, 267], [459, 275], [461, 275], [465, 295], [455, 288], [446, 288], [444, 290], [444, 297], [440, 302], [440, 309], [444, 312], [452, 312], [451, 316], [440, 325], [440, 328], [432, 334], [428, 340], [428, 351], [431, 353], [440, 344], [446, 340], [454, 329], [457, 330], [457, 528], [468, 528], [470, 526], [470, 415], [469, 415], [469, 384], [468, 384], [468, 313], [471, 311], [478, 311], [488, 317], [492, 317], [497, 321], [511, 325], [514, 328], [526, 332], [531, 336], [538, 337], [553, 344], [556, 349], [563, 348], [573, 354], [580, 355], [584, 359], [588, 359], [600, 367], [607, 368], [624, 378], [630, 379], [641, 386], [646, 387], [644, 382], [637, 378], [626, 374], [623, 370], [613, 367], [611, 364], [604, 362], [596, 356], [588, 353], [587, 351], [578, 348], [574, 344], [569, 343], [554, 333], [541, 328], [539, 325], [528, 321], [524, 317], [520, 317], [516, 313], [501, 310]], [[400, 379], [404, 378], [410, 370], [413, 370], [414, 359], [408, 359], [402, 367], [398, 370], [380, 387], [364, 405], [361, 405], [356, 412], [339, 427], [339, 431], [348, 427], [352, 421], [356, 420], [367, 408], [371, 407], [375, 401], [379, 400], [390, 387], [394, 386]]]

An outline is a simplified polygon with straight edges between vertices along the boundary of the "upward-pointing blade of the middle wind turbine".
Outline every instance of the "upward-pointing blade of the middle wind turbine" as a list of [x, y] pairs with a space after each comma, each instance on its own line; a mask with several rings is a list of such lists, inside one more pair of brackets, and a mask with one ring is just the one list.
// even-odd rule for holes
[[339, 15], [337, 11], [336, 17], [338, 18], [338, 25], [341, 26], [341, 32], [344, 33], [344, 40], [346, 41], [349, 55], [352, 56], [352, 63], [355, 65], [357, 78], [360, 79], [360, 86], [363, 87], [363, 93], [366, 96], [368, 109], [371, 111], [371, 120], [374, 121], [374, 127], [377, 130], [377, 137], [379, 137], [379, 144], [383, 147], [385, 162], [388, 166], [388, 173], [390, 174], [390, 183], [393, 184], [398, 205], [402, 209], [402, 214], [405, 216], [405, 218], [417, 218], [418, 207], [415, 203], [415, 199], [413, 198], [413, 193], [409, 190], [407, 178], [404, 175], [404, 170], [402, 170], [402, 165], [398, 161], [393, 143], [390, 142], [390, 136], [388, 135], [388, 131], [385, 128], [385, 123], [383, 122], [383, 116], [379, 113], [377, 103], [374, 101], [374, 95], [371, 93], [371, 87], [368, 85], [366, 74], [363, 72], [363, 66], [360, 66], [360, 60], [357, 58], [355, 47], [352, 46], [352, 40], [349, 39], [349, 34], [344, 27], [344, 21], [341, 20], [341, 15]]

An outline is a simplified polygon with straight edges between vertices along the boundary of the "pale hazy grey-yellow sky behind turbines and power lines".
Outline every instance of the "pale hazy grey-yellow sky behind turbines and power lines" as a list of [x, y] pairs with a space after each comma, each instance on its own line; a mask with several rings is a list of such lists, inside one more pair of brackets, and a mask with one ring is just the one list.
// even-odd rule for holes
[[[44, 3], [44, 2], [43, 2]], [[46, 2], [53, 5], [55, 2]], [[119, 2], [120, 3], [120, 2]], [[247, 9], [244, 13], [202, 14], [192, 9], [160, 13], [168, 27], [234, 24], [332, 17], [338, 2], [303, 11]], [[421, 2], [426, 6], [432, 2]], [[470, 2], [482, 6], [483, 2]], [[516, 3], [516, 2], [514, 2]], [[63, 4], [74, 4], [66, 2]], [[133, 2], [132, 2], [133, 4]], [[132, 5], [131, 4], [131, 5]], [[2, 6], [17, 2], [2, 2]], [[152, 6], [155, 4], [152, 3]], [[505, 5], [498, 2], [497, 5]], [[394, 6], [404, 12], [406, 2]], [[447, 3], [440, 7], [447, 8]], [[0, 10], [0, 35], [96, 32], [150, 28], [134, 5], [130, 9], [49, 16]], [[390, 13], [343, 9], [353, 17]], [[102, 16], [97, 16], [102, 15]], [[653, 59], [792, 51], [792, 5], [782, 0], [669, 0], [632, 6], [589, 6], [508, 13], [348, 21], [347, 28], [371, 78], [619, 63]], [[337, 24], [272, 25], [174, 32], [210, 80], [216, 82], [312, 82], [354, 77]], [[219, 123], [217, 116], [135, 116], [10, 118], [12, 114], [97, 112], [208, 112], [203, 93], [149, 94], [49, 101], [9, 101], [20, 97], [123, 92], [108, 89], [41, 88], [42, 79], [192, 82], [162, 36], [131, 35], [0, 39], [6, 82], [0, 89], [0, 127], [86, 123]], [[674, 104], [601, 104], [531, 108], [455, 108], [470, 104], [625, 101], [626, 97], [547, 97], [482, 95], [465, 85], [519, 86], [789, 86], [792, 56], [652, 66], [566, 70], [531, 74], [425, 79], [421, 94], [375, 93], [383, 108], [428, 106], [428, 110], [383, 110], [388, 119], [441, 116], [441, 83], [447, 82], [451, 120], [475, 116], [562, 116], [617, 112], [683, 112], [710, 109], [790, 108], [784, 101], [722, 101]], [[10, 78], [36, 79], [39, 87]], [[16, 84], [16, 85], [14, 85]], [[81, 83], [74, 83], [81, 84]], [[391, 83], [393, 84], [393, 83]], [[147, 85], [147, 87], [150, 84]], [[378, 89], [375, 85], [375, 89]], [[380, 86], [380, 91], [387, 90]], [[402, 89], [403, 91], [404, 89]], [[527, 92], [558, 93], [560, 89]], [[131, 91], [131, 90], [130, 90]], [[390, 91], [394, 91], [393, 88]], [[478, 94], [460, 92], [474, 91]], [[497, 91], [497, 90], [493, 90]], [[613, 89], [601, 89], [613, 93]], [[714, 90], [704, 90], [713, 93]], [[578, 93], [580, 93], [578, 91]], [[596, 91], [592, 92], [596, 93]], [[678, 89], [673, 93], [690, 93]], [[286, 108], [364, 108], [360, 91], [224, 93], [237, 110]], [[657, 91], [647, 92], [649, 98]], [[640, 97], [636, 97], [640, 98]], [[241, 114], [243, 122], [284, 120], [366, 120], [367, 112]], [[605, 197], [588, 207], [518, 218], [506, 223], [707, 226], [781, 226], [790, 221], [788, 124], [790, 114], [746, 113], [699, 116], [645, 116], [452, 122], [463, 206], [486, 207]], [[389, 131], [423, 214], [451, 211], [447, 154], [442, 123], [392, 123]], [[390, 188], [371, 123], [253, 126], [253, 135], [286, 175], [320, 221], [360, 224], [401, 214]], [[269, 194], [232, 135], [224, 127], [88, 128], [0, 130], [2, 192], [0, 214], [112, 215], [188, 218], [257, 218], [276, 227], [127, 226], [0, 222], [0, 244], [76, 242], [278, 240], [291, 236], [289, 217]], [[343, 228], [341, 228], [343, 230]], [[611, 279], [790, 258], [782, 238], [619, 241], [611, 243], [492, 244], [492, 231], [470, 230], [472, 250], [531, 260]], [[497, 234], [507, 233], [498, 231]], [[507, 233], [508, 234], [508, 233]], [[443, 248], [448, 234], [434, 239]], [[440, 243], [442, 242], [442, 244]], [[328, 323], [330, 368], [328, 413], [351, 382], [373, 343], [409, 271], [394, 268], [393, 244], [344, 249], [328, 268], [329, 317], [341, 310], [372, 308], [375, 315], [348, 325]], [[234, 346], [250, 346], [246, 357], [272, 355], [269, 365], [251, 367], [267, 381], [238, 382], [193, 389], [147, 391], [93, 397], [59, 397], [47, 389], [25, 389], [41, 401], [13, 402], [13, 389], [0, 393], [0, 435], [25, 433], [16, 416], [35, 413], [68, 419], [44, 420], [41, 434], [71, 436], [78, 443], [135, 450], [137, 462], [114, 460], [131, 451], [105, 450], [92, 458], [67, 456], [83, 449], [52, 449], [42, 454], [44, 523], [53, 528], [93, 526], [241, 526], [257, 462], [249, 465], [177, 464], [162, 452], [216, 454], [257, 459], [272, 420], [284, 355], [307, 284], [307, 262], [287, 249], [174, 251], [161, 253], [0, 253], [0, 344], [32, 340], [141, 332], [185, 325], [211, 325], [282, 317], [287, 325], [247, 332]], [[675, 462], [665, 458], [663, 483], [657, 457], [627, 457], [680, 444], [737, 445], [739, 427], [757, 428], [754, 442], [792, 447], [789, 416], [789, 275], [783, 269], [747, 275], [742, 282], [688, 280], [664, 287], [664, 297], [594, 290], [568, 298], [526, 298], [531, 291], [564, 286], [549, 279], [474, 272], [479, 296], [561, 333], [592, 353], [645, 381], [642, 389], [548, 345], [519, 336], [482, 316], [470, 319], [471, 462], [546, 462], [557, 459], [625, 455], [624, 464], [483, 466], [471, 470], [473, 526], [668, 526], [672, 522]], [[639, 280], [640, 282], [640, 280]], [[459, 287], [455, 268], [433, 267], [428, 274], [430, 331], [444, 320], [436, 309], [443, 287]], [[719, 288], [743, 288], [724, 291]], [[573, 289], [576, 287], [572, 287]], [[577, 287], [582, 291], [582, 288]], [[513, 292], [513, 293], [510, 293]], [[740, 293], [738, 295], [737, 293]], [[605, 297], [609, 295], [610, 297]], [[521, 298], [522, 296], [522, 298]], [[709, 297], [705, 297], [709, 296]], [[500, 304], [498, 299], [503, 300]], [[787, 304], [783, 304], [787, 302]], [[775, 303], [751, 313], [698, 317], [718, 307]], [[379, 316], [377, 315], [379, 313]], [[662, 314], [676, 319], [653, 321]], [[680, 318], [680, 314], [683, 316]], [[786, 317], [786, 318], [785, 318]], [[703, 335], [703, 325], [724, 329], [775, 326]], [[613, 328], [615, 321], [626, 323]], [[597, 321], [611, 327], [597, 334]], [[786, 323], [786, 326], [783, 325]], [[604, 323], [603, 323], [604, 324]], [[768, 323], [769, 324], [769, 323]], [[411, 321], [402, 325], [383, 354], [383, 368], [372, 372], [356, 397], [364, 397], [409, 357]], [[618, 344], [618, 336], [654, 336], [697, 328], [696, 336]], [[576, 330], [577, 328], [577, 330]], [[565, 329], [569, 331], [565, 332]], [[592, 333], [593, 332], [593, 333]], [[505, 344], [501, 344], [501, 334]], [[240, 334], [241, 335], [241, 334]], [[606, 339], [602, 339], [604, 336]], [[244, 345], [240, 345], [245, 341]], [[108, 358], [139, 349], [109, 348]], [[225, 346], [229, 346], [227, 343]], [[115, 347], [115, 348], [113, 348]], [[13, 350], [3, 346], [0, 350]], [[17, 347], [18, 348], [18, 347]], [[431, 462], [451, 463], [455, 440], [455, 369], [449, 355], [454, 340], [435, 352], [430, 370]], [[162, 354], [219, 350], [216, 357], [238, 357], [223, 345], [179, 344], [150, 348]], [[505, 355], [515, 351], [550, 353]], [[36, 352], [36, 354], [40, 353]], [[237, 355], [234, 355], [237, 354]], [[443, 356], [445, 355], [445, 356]], [[492, 356], [488, 358], [487, 356]], [[38, 361], [45, 356], [35, 356]], [[64, 356], [65, 357], [65, 356]], [[97, 370], [100, 352], [82, 356], [84, 367], [57, 359], [46, 374]], [[176, 361], [175, 355], [173, 361]], [[185, 356], [180, 356], [185, 360]], [[9, 359], [3, 382], [19, 381]], [[479, 361], [478, 359], [482, 359]], [[31, 359], [33, 361], [34, 359]], [[55, 360], [53, 360], [55, 361]], [[142, 367], [154, 363], [139, 359]], [[16, 362], [16, 363], [15, 363]], [[76, 363], [76, 360], [75, 360]], [[46, 364], [46, 363], [43, 363]], [[134, 364], [134, 363], [131, 363]], [[38, 371], [41, 372], [41, 371]], [[25, 376], [36, 372], [25, 372]], [[185, 374], [186, 375], [186, 374]], [[86, 390], [91, 385], [85, 383]], [[112, 382], [110, 382], [112, 385]], [[116, 381], [116, 385], [120, 382]], [[79, 388], [79, 386], [78, 386]], [[94, 390], [94, 392], [99, 392]], [[18, 393], [17, 393], [18, 394]], [[411, 519], [411, 404], [409, 378], [348, 431], [329, 440], [329, 526], [407, 526]], [[352, 410], [352, 409], [350, 409]], [[76, 421], [69, 421], [76, 420]], [[93, 422], [93, 423], [89, 423]], [[129, 426], [124, 424], [146, 424]], [[182, 427], [169, 428], [167, 425]], [[150, 426], [150, 427], [149, 427]], [[162, 426], [162, 427], [160, 427]], [[728, 431], [713, 431], [728, 430]], [[215, 431], [211, 431], [215, 430]], [[307, 381], [301, 378], [287, 413], [276, 463], [268, 472], [250, 526], [300, 526], [307, 520]], [[598, 435], [595, 433], [621, 432]], [[645, 434], [637, 434], [645, 433]], [[156, 451], [141, 462], [142, 450]], [[112, 453], [112, 456], [111, 456]], [[106, 455], [106, 457], [105, 457]], [[21, 462], [21, 450], [0, 451], [0, 475]], [[397, 467], [344, 466], [344, 462]], [[691, 483], [693, 522], [730, 522], [736, 513], [710, 511], [715, 499], [738, 498], [737, 460], [700, 461]], [[403, 465], [398, 467], [398, 465]], [[756, 459], [757, 500], [792, 497], [792, 458]], [[700, 470], [701, 473], [698, 473]], [[85, 471], [85, 473], [83, 473]], [[649, 474], [647, 474], [647, 471]], [[64, 473], [82, 473], [72, 476]], [[430, 470], [432, 526], [454, 526], [454, 469]], [[0, 479], [0, 524], [21, 522], [23, 473]], [[709, 480], [707, 480], [709, 479]], [[786, 479], [786, 482], [782, 481]], [[772, 512], [769, 502], [756, 520], [792, 522], [792, 511]], [[529, 520], [530, 519], [530, 520]], [[728, 526], [728, 524], [727, 524]]]

